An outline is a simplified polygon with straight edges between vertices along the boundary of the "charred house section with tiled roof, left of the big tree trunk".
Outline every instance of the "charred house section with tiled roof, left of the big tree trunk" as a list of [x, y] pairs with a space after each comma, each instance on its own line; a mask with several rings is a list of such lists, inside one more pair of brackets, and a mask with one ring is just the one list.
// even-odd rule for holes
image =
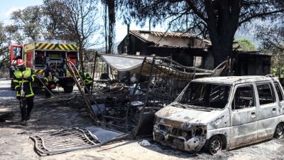
[[167, 57], [181, 65], [213, 69], [210, 46], [210, 41], [190, 33], [131, 30], [119, 44], [118, 53]]

